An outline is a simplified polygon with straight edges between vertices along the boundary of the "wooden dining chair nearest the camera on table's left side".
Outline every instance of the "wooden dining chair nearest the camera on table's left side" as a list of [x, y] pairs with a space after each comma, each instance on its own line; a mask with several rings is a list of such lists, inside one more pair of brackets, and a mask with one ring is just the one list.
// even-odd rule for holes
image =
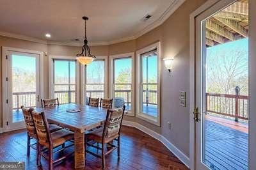
[[[36, 151], [37, 165], [38, 166], [41, 165], [40, 159], [42, 156], [49, 161], [48, 169], [52, 169], [54, 163], [60, 162], [61, 160], [64, 160], [65, 158], [70, 156], [72, 153], [74, 153], [74, 152], [67, 153], [63, 157], [60, 157], [56, 160], [54, 160], [54, 157], [53, 157], [54, 153], [58, 153], [74, 145], [74, 144], [70, 144], [68, 146], [65, 146], [65, 143], [67, 141], [71, 142], [71, 140], [74, 139], [74, 133], [64, 128], [51, 133], [49, 124], [47, 122], [44, 112], [31, 111], [31, 116], [35, 124], [36, 137], [38, 139], [38, 143], [36, 147], [37, 148], [37, 151]], [[62, 148], [58, 150], [54, 150], [54, 148], [57, 148], [59, 146], [62, 146]], [[45, 149], [42, 150], [42, 148], [47, 148], [47, 151], [48, 151], [47, 155], [45, 154]]]

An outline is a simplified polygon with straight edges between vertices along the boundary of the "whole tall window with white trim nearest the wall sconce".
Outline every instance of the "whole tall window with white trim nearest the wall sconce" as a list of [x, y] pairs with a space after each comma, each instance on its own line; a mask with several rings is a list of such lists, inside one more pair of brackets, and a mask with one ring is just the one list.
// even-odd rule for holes
[[156, 43], [137, 52], [138, 74], [136, 75], [138, 117], [156, 125], [160, 125], [159, 47], [159, 43]]

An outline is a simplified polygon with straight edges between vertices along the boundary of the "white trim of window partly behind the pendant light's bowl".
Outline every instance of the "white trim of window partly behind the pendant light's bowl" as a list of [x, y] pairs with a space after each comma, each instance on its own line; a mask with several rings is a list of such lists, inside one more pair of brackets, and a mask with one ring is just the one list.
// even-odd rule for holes
[[[104, 98], [108, 98], [108, 56], [96, 56], [96, 60], [104, 60]], [[86, 97], [86, 86], [85, 86], [85, 75], [84, 75], [84, 65], [80, 67], [81, 72], [81, 104], [85, 104]]]

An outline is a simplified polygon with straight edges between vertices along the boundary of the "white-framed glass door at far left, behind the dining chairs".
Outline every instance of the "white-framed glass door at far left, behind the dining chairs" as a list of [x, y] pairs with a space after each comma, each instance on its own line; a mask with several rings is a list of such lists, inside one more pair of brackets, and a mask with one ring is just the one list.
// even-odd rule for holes
[[21, 106], [40, 107], [40, 56], [8, 52], [6, 130], [24, 128]]

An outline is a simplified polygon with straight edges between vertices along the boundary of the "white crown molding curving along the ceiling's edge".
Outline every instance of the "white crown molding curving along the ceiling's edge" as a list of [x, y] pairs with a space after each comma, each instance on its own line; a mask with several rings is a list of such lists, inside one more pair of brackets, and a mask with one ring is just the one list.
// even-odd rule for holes
[[[132, 36], [126, 36], [125, 38], [120, 38], [117, 40], [106, 41], [106, 42], [89, 42], [89, 45], [90, 46], [113, 45], [115, 43], [122, 43], [122, 42], [130, 41], [130, 40], [136, 40], [137, 38], [144, 35], [145, 33], [148, 33], [152, 29], [163, 24], [163, 22], [165, 20], [167, 20], [173, 14], [173, 12], [175, 12], [175, 10], [177, 10], [180, 7], [180, 5], [182, 5], [185, 1], [186, 0], [173, 1], [173, 3], [170, 4], [170, 6], [168, 6], [168, 8], [159, 17], [159, 19], [155, 20], [154, 22], [152, 22], [148, 26], [144, 27], [141, 31], [138, 31], [137, 33], [135, 33]], [[50, 45], [68, 45], [68, 46], [78, 46], [78, 47], [83, 46], [83, 43], [81, 43], [81, 42], [54, 42], [54, 41], [41, 40], [39, 38], [31, 38], [31, 37], [25, 36], [25, 35], [7, 33], [4, 31], [0, 31], [0, 36], [7, 36], [10, 38], [16, 38], [16, 39], [20, 39], [20, 40], [27, 40], [27, 41], [31, 41], [31, 42], [44, 43], [44, 44], [50, 44]]]

